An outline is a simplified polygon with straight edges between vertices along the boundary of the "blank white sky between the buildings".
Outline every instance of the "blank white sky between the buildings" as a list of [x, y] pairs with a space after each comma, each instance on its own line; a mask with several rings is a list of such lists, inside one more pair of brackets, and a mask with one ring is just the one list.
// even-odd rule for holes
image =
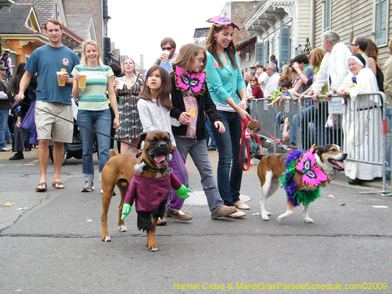
[[193, 43], [197, 27], [210, 27], [205, 22], [218, 16], [225, 0], [108, 0], [109, 36], [121, 55], [128, 55], [144, 68], [149, 68], [161, 54], [161, 40], [171, 37], [176, 53], [181, 45]]

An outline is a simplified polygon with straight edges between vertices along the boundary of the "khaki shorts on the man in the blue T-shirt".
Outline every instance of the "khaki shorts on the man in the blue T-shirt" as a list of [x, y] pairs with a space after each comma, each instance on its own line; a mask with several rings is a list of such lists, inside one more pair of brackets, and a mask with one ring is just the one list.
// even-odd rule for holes
[[[35, 125], [37, 127], [38, 140], [53, 139], [54, 142], [72, 142], [73, 123], [60, 119], [64, 118], [73, 122], [72, 104], [37, 101], [35, 107], [39, 108], [35, 109]], [[50, 114], [42, 110], [45, 110]], [[55, 114], [60, 118], [51, 114]], [[53, 135], [53, 138], [50, 136], [51, 134]]]

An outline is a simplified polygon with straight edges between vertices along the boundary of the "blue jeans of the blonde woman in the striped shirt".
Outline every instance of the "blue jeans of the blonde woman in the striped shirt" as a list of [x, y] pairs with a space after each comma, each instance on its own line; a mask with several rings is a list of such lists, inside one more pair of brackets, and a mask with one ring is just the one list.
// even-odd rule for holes
[[[78, 110], [77, 123], [95, 129], [103, 134], [110, 135], [111, 117], [109, 109], [104, 110]], [[94, 148], [94, 132], [84, 127], [79, 127], [80, 137], [83, 144], [83, 180], [94, 180], [94, 163], [93, 163], [93, 148]], [[97, 134], [98, 141], [98, 155], [99, 155], [99, 169], [98, 179], [101, 180], [102, 169], [109, 160], [110, 138]]]

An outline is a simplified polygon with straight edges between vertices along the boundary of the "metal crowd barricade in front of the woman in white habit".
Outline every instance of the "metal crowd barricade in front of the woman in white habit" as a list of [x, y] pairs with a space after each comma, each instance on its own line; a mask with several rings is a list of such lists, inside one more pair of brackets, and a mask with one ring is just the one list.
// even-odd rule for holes
[[[381, 166], [383, 191], [361, 194], [389, 193], [386, 191], [386, 172], [391, 171], [391, 168], [387, 163], [385, 94], [361, 93], [355, 101], [350, 98], [345, 99], [344, 103], [347, 105], [345, 113], [331, 113], [331, 115], [325, 96], [318, 98], [319, 103], [312, 103], [311, 96], [299, 101], [297, 114], [300, 120], [296, 124], [299, 136], [296, 137], [296, 145], [308, 149], [313, 144], [317, 146], [336, 144], [348, 153], [347, 161], [358, 163], [358, 170], [367, 169], [364, 164]], [[342, 105], [342, 98], [338, 95], [333, 95], [331, 98], [338, 98], [333, 99], [333, 103]], [[314, 125], [313, 128], [311, 123]]]

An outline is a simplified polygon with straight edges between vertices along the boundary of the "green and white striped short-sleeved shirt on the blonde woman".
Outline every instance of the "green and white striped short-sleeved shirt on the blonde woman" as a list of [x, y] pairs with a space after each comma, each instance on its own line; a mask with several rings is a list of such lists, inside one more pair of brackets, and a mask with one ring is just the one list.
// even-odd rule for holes
[[107, 79], [113, 75], [112, 69], [106, 65], [101, 65], [98, 68], [89, 68], [80, 64], [73, 68], [72, 75], [76, 73], [87, 74], [86, 88], [81, 90], [79, 97], [79, 109], [108, 109], [106, 88]]

